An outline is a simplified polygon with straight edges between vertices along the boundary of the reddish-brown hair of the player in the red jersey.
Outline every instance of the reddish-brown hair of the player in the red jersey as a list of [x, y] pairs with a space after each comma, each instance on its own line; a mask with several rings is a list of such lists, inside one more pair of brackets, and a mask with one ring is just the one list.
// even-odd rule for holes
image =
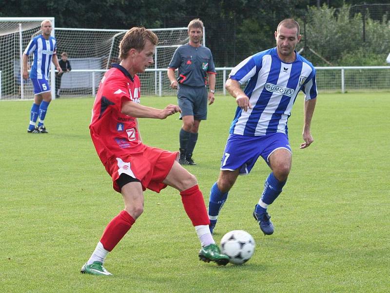
[[136, 49], [138, 52], [142, 51], [146, 41], [156, 45], [158, 38], [154, 32], [144, 27], [133, 27], [128, 30], [119, 43], [119, 60], [126, 59], [130, 49]]

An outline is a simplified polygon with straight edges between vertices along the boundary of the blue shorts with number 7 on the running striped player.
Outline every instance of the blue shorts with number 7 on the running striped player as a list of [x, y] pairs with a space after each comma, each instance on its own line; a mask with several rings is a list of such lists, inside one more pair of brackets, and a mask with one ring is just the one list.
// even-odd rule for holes
[[279, 148], [285, 148], [292, 152], [289, 137], [281, 132], [262, 136], [230, 134], [223, 152], [220, 169], [230, 171], [239, 169], [240, 175], [249, 174], [259, 156], [270, 165], [268, 161], [270, 155]]

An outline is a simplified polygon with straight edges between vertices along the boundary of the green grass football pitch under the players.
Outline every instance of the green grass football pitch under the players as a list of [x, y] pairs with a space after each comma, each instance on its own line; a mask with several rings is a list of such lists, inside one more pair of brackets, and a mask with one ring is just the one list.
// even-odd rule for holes
[[[320, 94], [314, 143], [300, 150], [303, 97], [289, 122], [292, 172], [269, 208], [275, 233], [252, 217], [270, 170], [239, 177], [219, 216], [254, 236], [242, 266], [198, 261], [196, 233], [173, 188], [145, 192], [145, 210], [106, 259], [113, 277], [82, 275], [107, 223], [123, 209], [89, 136], [92, 98], [59, 99], [49, 134], [27, 134], [31, 101], [0, 103], [0, 292], [389, 292], [389, 93]], [[163, 107], [175, 97], [143, 97]], [[219, 173], [234, 99], [217, 96], [188, 167], [205, 201]], [[144, 142], [178, 148], [178, 115], [141, 119]]]

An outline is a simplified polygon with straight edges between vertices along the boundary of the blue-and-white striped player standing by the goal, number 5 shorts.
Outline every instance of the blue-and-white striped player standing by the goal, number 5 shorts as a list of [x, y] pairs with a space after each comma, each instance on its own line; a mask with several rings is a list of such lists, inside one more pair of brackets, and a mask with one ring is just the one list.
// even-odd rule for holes
[[[47, 107], [52, 95], [49, 85], [49, 69], [51, 62], [54, 63], [59, 73], [62, 72], [56, 55], [57, 42], [50, 34], [52, 22], [42, 21], [40, 24], [42, 34], [33, 38], [23, 53], [23, 78], [28, 78], [27, 60], [28, 55], [34, 54], [33, 65], [31, 66], [30, 79], [34, 86], [34, 103], [31, 107], [30, 124], [28, 133], [47, 133], [43, 120], [45, 119]], [[38, 125], [37, 124], [38, 120]]]

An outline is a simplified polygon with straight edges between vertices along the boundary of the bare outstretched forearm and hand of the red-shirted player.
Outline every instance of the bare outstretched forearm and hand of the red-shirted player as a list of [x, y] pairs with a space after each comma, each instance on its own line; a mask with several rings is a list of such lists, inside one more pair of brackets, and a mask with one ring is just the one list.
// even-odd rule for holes
[[178, 105], [172, 104], [167, 105], [164, 109], [156, 109], [128, 101], [122, 104], [121, 112], [135, 118], [165, 119], [177, 112], [181, 112], [181, 109]]

